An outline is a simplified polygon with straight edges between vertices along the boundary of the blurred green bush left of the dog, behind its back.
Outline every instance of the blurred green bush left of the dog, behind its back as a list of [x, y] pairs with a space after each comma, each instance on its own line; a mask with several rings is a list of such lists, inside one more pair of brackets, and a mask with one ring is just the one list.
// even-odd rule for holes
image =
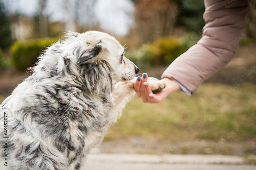
[[37, 57], [43, 53], [46, 47], [59, 39], [49, 38], [24, 41], [11, 46], [11, 57], [17, 70], [26, 70], [37, 62]]

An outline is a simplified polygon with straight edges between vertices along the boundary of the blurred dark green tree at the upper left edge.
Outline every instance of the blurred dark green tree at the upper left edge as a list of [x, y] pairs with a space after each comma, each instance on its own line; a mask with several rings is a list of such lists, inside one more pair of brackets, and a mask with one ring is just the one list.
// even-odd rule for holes
[[0, 47], [5, 49], [12, 43], [10, 22], [5, 14], [5, 6], [0, 1]]

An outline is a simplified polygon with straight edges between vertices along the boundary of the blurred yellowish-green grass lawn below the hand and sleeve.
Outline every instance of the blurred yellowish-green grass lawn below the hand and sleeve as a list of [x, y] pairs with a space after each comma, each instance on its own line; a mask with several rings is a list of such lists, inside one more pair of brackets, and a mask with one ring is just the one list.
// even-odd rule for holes
[[[233, 131], [229, 141], [255, 142], [256, 86], [242, 84], [230, 95], [227, 90], [228, 85], [202, 84], [192, 96], [178, 91], [156, 104], [135, 97], [118, 123], [110, 127], [105, 140], [141, 135], [148, 128], [144, 137], [168, 141], [219, 142]], [[163, 118], [156, 121], [158, 115]], [[151, 123], [154, 120], [156, 124]]]

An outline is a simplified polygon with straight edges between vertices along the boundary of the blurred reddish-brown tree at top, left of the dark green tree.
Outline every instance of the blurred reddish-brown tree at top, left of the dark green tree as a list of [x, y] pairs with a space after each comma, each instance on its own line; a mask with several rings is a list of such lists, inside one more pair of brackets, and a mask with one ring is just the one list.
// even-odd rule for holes
[[140, 43], [150, 43], [156, 36], [172, 35], [177, 3], [172, 0], [133, 0], [135, 23]]

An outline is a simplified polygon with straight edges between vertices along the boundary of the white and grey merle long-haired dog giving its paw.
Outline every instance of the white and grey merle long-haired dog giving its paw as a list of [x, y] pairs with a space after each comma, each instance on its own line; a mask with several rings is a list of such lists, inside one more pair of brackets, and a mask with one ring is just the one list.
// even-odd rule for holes
[[139, 69], [114, 37], [98, 31], [65, 37], [0, 105], [1, 170], [80, 169], [135, 93]]

